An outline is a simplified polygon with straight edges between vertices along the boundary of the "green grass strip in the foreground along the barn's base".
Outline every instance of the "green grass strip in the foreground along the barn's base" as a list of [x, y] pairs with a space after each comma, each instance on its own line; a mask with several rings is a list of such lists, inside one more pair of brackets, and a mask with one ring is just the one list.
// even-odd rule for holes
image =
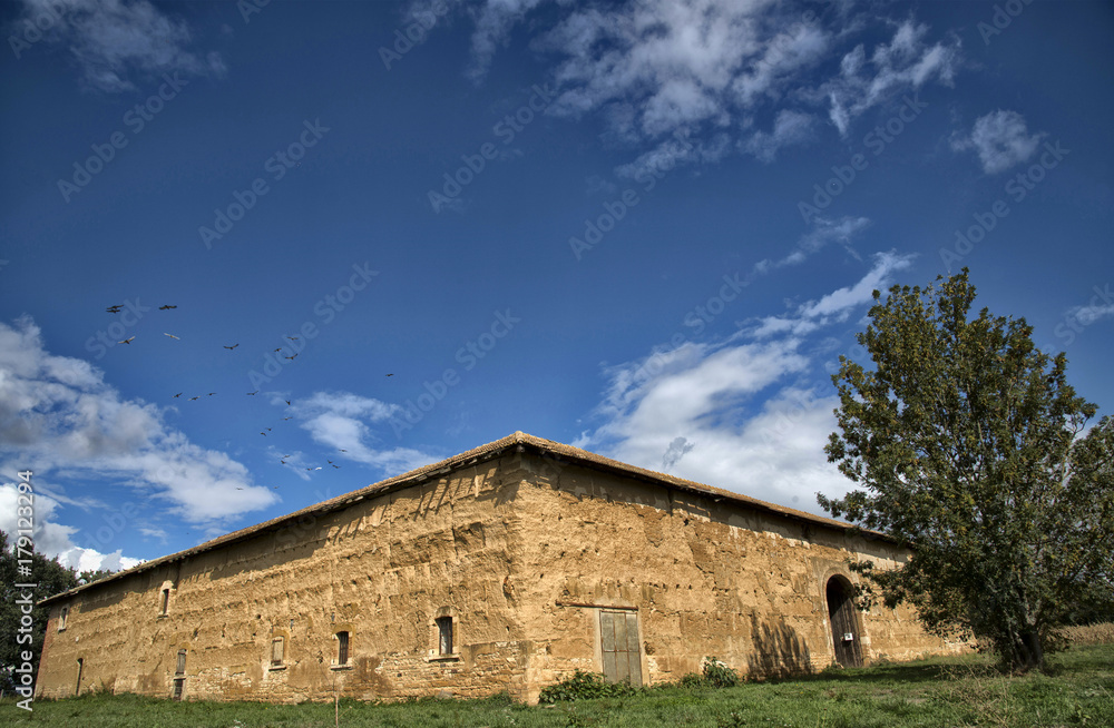
[[[332, 704], [172, 702], [87, 695], [0, 701], [0, 722], [52, 727], [310, 728], [333, 725]], [[1114, 645], [1075, 646], [1046, 675], [1004, 677], [979, 656], [827, 671], [810, 678], [688, 690], [656, 687], [624, 698], [529, 707], [483, 700], [341, 701], [341, 726], [1114, 726]]]

